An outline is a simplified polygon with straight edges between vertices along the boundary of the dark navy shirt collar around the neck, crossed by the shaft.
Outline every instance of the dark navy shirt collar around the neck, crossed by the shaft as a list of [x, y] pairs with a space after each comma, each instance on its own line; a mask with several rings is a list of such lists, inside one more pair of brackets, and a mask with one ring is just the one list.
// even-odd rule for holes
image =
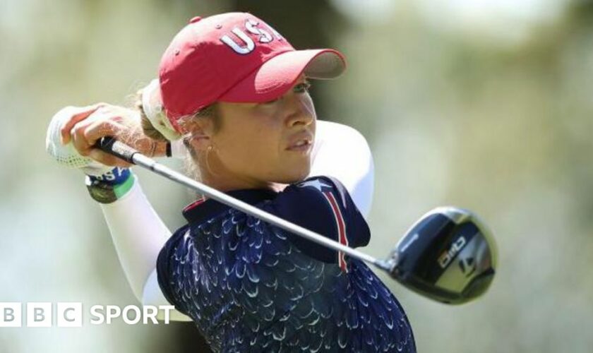
[[[268, 189], [241, 189], [225, 192], [227, 195], [248, 203], [255, 205], [264, 200], [270, 200], [277, 196], [277, 193]], [[215, 215], [228, 210], [230, 206], [224, 205], [212, 198], [201, 197], [187, 205], [182, 211], [187, 222], [204, 222]]]

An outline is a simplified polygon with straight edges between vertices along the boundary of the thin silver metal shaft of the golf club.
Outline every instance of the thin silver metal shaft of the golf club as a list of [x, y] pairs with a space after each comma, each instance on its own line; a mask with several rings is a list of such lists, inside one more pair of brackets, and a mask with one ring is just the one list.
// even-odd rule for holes
[[292, 222], [288, 222], [280, 217], [272, 215], [271, 213], [267, 213], [260, 208], [256, 208], [253, 205], [249, 205], [243, 201], [240, 201], [232, 196], [227, 195], [226, 193], [222, 193], [221, 191], [217, 191], [216, 189], [211, 188], [205, 184], [202, 184], [194, 179], [188, 178], [179, 172], [175, 172], [174, 170], [170, 169], [169, 167], [164, 166], [152, 160], [145, 155], [140, 154], [139, 152], [133, 153], [131, 156], [131, 162], [134, 164], [148, 169], [156, 174], [161, 175], [167, 179], [175, 181], [181, 185], [188, 187], [194, 191], [198, 191], [209, 198], [212, 198], [220, 203], [224, 203], [225, 205], [229, 205], [236, 210], [240, 210], [248, 215], [252, 215], [253, 217], [257, 217], [260, 220], [270, 223], [271, 225], [275, 225], [276, 227], [280, 227], [287, 232], [291, 232], [292, 234], [296, 234], [299, 237], [303, 237], [305, 239], [309, 239], [311, 241], [316, 242], [317, 244], [321, 244], [326, 246], [330, 249], [335, 251], [342, 251], [343, 253], [347, 254], [348, 256], [352, 256], [353, 258], [357, 258], [361, 261], [365, 261], [367, 263], [371, 263], [382, 270], [388, 270], [388, 265], [385, 264], [384, 261], [379, 261], [373, 256], [367, 255], [361, 251], [356, 249], [352, 249], [349, 246], [345, 246], [344, 244], [340, 244], [339, 242], [329, 239], [327, 237], [323, 237], [323, 235], [318, 234], [316, 232], [312, 232], [309, 229], [301, 227], [299, 225], [295, 225]]

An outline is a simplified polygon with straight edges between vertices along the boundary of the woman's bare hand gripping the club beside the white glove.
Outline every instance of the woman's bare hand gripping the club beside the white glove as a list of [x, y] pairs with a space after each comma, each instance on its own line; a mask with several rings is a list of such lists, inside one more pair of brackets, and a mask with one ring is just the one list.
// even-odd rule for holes
[[149, 157], [164, 156], [166, 143], [144, 136], [140, 126], [140, 114], [107, 103], [97, 103], [87, 107], [67, 107], [68, 116], [60, 129], [61, 143], [73, 143], [80, 155], [114, 167], [130, 167], [113, 155], [93, 146], [104, 136], [113, 136]]

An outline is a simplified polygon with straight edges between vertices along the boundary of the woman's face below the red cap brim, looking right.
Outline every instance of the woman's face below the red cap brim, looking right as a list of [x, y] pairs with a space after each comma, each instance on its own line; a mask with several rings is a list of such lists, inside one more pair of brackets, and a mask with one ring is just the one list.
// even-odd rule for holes
[[316, 114], [304, 77], [265, 103], [217, 104], [220, 129], [211, 136], [214, 178], [235, 188], [290, 184], [309, 175]]

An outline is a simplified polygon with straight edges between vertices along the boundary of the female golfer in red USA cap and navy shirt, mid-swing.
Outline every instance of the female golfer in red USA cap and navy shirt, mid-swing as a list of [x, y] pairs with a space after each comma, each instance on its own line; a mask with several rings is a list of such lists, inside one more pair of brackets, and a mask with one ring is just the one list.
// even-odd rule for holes
[[[352, 129], [317, 126], [308, 93], [308, 79], [344, 69], [339, 52], [295, 50], [249, 13], [193, 18], [164, 53], [157, 90], [143, 92], [139, 113], [69, 107], [50, 124], [47, 149], [88, 174], [136, 297], [174, 305], [172, 318], [196, 323], [216, 352], [416, 349], [402, 307], [361, 261], [205, 198], [183, 210], [187, 224], [170, 234], [128, 164], [92, 146], [116, 136], [160, 156], [170, 155], [164, 137], [181, 138], [204, 184], [365, 246], [364, 177], [345, 170], [361, 169], [364, 157], [349, 146], [366, 143]], [[152, 95], [162, 106], [148, 102]], [[317, 127], [327, 147], [316, 140]]]

